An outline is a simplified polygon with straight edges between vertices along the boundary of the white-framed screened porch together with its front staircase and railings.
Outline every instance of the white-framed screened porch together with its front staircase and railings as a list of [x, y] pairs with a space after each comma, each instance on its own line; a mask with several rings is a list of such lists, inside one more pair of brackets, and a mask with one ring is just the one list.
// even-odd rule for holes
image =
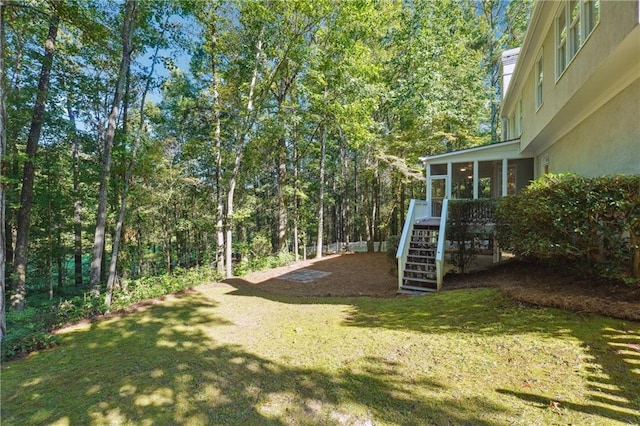
[[426, 200], [411, 200], [398, 245], [399, 291], [436, 291], [442, 285], [450, 199], [500, 198], [534, 178], [534, 159], [520, 140], [421, 158]]

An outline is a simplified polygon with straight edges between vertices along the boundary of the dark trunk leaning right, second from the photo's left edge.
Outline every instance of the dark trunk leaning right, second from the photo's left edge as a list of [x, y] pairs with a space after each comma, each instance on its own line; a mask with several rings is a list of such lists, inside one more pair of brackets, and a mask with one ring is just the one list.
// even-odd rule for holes
[[53, 55], [55, 52], [55, 41], [58, 35], [58, 22], [60, 18], [58, 12], [54, 10], [49, 23], [49, 32], [45, 41], [45, 54], [40, 69], [38, 80], [38, 92], [36, 103], [33, 109], [33, 118], [29, 136], [27, 137], [27, 160], [24, 163], [22, 173], [22, 190], [20, 191], [20, 210], [18, 211], [18, 230], [16, 234], [16, 250], [14, 253], [13, 270], [15, 274], [14, 293], [11, 296], [11, 307], [22, 311], [26, 304], [27, 296], [27, 250], [29, 244], [29, 227], [31, 223], [31, 205], [33, 203], [33, 181], [35, 177], [35, 166], [33, 164], [38, 151], [40, 133], [44, 124], [44, 110], [49, 92], [49, 80]]

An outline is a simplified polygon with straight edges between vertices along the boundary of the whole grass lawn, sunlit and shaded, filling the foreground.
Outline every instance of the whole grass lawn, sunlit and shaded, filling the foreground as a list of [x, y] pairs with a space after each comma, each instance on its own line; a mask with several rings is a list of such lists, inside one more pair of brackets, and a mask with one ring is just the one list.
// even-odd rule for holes
[[311, 299], [216, 284], [68, 330], [1, 379], [4, 426], [638, 424], [640, 323], [495, 289]]

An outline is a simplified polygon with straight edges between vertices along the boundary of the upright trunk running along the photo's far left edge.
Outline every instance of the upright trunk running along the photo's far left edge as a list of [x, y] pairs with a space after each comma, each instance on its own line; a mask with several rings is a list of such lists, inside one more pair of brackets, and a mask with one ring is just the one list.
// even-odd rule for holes
[[[7, 155], [7, 106], [5, 91], [5, 63], [4, 63], [4, 4], [5, 0], [0, 0], [0, 177], [5, 176], [5, 157]], [[0, 179], [0, 345], [7, 334], [5, 322], [5, 283], [6, 283], [6, 235], [5, 226], [5, 198], [6, 183]]]

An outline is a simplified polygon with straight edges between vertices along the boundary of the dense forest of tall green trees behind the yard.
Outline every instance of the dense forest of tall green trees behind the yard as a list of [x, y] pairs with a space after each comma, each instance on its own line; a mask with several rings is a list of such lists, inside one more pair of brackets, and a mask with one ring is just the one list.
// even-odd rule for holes
[[530, 7], [0, 0], [0, 338], [33, 294], [397, 236], [420, 156], [499, 140]]

